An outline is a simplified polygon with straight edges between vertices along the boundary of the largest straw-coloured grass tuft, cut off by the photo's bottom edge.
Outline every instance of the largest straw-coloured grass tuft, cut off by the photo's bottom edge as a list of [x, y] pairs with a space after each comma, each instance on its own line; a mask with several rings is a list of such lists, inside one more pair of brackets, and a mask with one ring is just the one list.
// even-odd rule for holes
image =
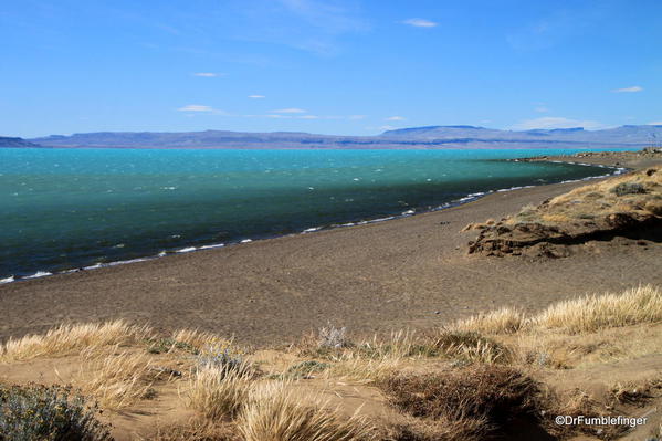
[[245, 441], [359, 441], [372, 439], [374, 429], [354, 414], [302, 402], [286, 384], [255, 388], [239, 414], [237, 426]]

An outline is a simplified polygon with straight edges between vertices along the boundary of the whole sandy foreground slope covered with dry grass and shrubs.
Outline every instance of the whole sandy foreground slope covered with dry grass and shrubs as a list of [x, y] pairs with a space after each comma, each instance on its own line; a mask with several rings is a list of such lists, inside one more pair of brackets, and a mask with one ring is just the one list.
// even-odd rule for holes
[[389, 338], [353, 342], [328, 325], [270, 350], [197, 330], [67, 325], [0, 346], [0, 439], [654, 435], [652, 417], [635, 430], [557, 426], [554, 417], [641, 416], [661, 405], [661, 347], [655, 286]]

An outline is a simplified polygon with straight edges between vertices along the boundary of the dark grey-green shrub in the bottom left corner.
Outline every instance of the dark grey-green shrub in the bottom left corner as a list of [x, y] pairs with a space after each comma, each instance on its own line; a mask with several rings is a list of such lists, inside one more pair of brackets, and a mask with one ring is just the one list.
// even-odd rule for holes
[[0, 441], [109, 441], [97, 406], [61, 386], [0, 386]]

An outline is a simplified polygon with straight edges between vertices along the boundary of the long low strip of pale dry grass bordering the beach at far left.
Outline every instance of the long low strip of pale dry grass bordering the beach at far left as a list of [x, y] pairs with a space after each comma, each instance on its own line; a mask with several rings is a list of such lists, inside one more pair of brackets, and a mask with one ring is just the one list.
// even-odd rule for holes
[[109, 345], [129, 345], [147, 338], [151, 329], [124, 321], [103, 324], [61, 325], [44, 335], [10, 338], [0, 344], [0, 361], [18, 361], [36, 357], [53, 357], [74, 350], [96, 350]]

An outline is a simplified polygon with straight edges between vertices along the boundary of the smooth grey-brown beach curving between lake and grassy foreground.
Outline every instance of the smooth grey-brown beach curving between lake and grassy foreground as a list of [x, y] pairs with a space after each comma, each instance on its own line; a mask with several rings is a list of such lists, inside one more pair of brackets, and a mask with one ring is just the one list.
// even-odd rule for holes
[[555, 260], [467, 255], [476, 237], [460, 233], [467, 223], [500, 219], [585, 183], [497, 192], [388, 222], [1, 285], [0, 339], [66, 322], [126, 318], [164, 332], [199, 328], [277, 346], [327, 323], [353, 335], [430, 328], [506, 305], [532, 312], [585, 293], [662, 285], [662, 245], [653, 242]]

